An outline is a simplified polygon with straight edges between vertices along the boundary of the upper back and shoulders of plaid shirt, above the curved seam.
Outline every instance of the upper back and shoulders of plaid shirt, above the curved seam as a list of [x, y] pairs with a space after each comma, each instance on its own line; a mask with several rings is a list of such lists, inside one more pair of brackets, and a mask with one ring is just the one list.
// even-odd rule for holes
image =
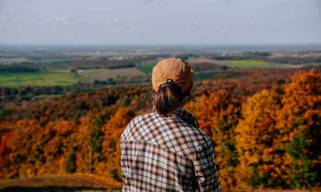
[[148, 142], [188, 158], [194, 157], [208, 140], [206, 133], [198, 128], [194, 115], [182, 109], [168, 117], [155, 112], [137, 116], [121, 135], [121, 142]]

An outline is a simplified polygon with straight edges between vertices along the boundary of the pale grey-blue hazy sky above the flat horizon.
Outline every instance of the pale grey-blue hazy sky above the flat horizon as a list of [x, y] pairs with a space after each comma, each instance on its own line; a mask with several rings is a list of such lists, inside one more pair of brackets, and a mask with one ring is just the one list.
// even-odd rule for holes
[[310, 43], [320, 0], [0, 0], [0, 44]]

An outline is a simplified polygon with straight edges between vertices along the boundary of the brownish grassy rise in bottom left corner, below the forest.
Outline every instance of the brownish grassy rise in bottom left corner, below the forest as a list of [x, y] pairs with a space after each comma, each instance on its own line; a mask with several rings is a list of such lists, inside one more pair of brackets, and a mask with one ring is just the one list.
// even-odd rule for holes
[[121, 191], [103, 181], [85, 176], [37, 176], [0, 181], [0, 191]]

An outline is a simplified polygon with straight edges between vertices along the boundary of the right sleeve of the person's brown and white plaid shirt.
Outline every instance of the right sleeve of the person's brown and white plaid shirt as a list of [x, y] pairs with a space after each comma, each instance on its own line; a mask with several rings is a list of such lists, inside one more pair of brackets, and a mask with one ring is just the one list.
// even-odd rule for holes
[[193, 164], [200, 191], [223, 191], [218, 180], [212, 143], [208, 137], [199, 146]]

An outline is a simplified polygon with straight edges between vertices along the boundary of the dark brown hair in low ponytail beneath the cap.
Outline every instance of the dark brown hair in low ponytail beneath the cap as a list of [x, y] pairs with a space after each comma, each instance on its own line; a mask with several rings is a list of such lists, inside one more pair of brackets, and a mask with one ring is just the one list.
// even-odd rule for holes
[[182, 93], [181, 87], [173, 83], [160, 85], [157, 92], [151, 86], [152, 93], [149, 100], [153, 102], [153, 106], [160, 116], [167, 117], [174, 114], [178, 108], [183, 107], [188, 101], [196, 102], [191, 94], [191, 87], [192, 84], [187, 91]]

